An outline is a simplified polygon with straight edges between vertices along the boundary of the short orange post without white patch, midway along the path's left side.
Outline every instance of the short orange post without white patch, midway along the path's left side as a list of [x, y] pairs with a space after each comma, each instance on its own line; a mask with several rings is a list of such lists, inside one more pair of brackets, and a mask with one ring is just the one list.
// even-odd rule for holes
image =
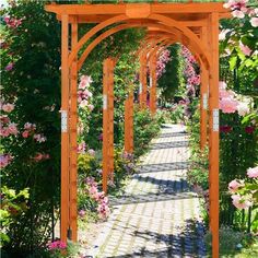
[[133, 152], [133, 91], [125, 102], [125, 152]]

